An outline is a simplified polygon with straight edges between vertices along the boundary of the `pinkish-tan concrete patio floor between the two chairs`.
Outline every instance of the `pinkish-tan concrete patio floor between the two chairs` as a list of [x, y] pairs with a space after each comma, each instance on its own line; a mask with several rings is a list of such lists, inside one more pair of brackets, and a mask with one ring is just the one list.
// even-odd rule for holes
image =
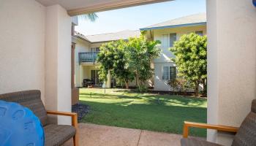
[[[181, 135], [79, 123], [80, 146], [180, 146]], [[72, 140], [64, 146], [72, 145]]]

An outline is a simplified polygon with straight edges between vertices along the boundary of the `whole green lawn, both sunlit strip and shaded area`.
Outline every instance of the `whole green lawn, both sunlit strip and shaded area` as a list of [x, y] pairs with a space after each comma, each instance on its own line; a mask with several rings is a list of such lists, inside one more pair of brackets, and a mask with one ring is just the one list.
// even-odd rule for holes
[[[206, 123], [206, 99], [135, 93], [124, 89], [80, 88], [80, 101], [91, 107], [82, 122], [182, 134], [184, 120]], [[192, 128], [190, 135], [206, 137]]]

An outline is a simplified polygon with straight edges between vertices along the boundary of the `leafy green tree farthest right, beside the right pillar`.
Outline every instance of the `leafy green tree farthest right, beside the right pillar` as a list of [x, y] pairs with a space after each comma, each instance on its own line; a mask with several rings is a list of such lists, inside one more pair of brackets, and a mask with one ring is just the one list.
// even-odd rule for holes
[[[170, 51], [176, 55], [172, 60], [178, 66], [178, 74], [184, 77], [198, 96], [199, 84], [206, 85], [207, 37], [195, 33], [183, 35]], [[206, 88], [204, 88], [205, 90]]]

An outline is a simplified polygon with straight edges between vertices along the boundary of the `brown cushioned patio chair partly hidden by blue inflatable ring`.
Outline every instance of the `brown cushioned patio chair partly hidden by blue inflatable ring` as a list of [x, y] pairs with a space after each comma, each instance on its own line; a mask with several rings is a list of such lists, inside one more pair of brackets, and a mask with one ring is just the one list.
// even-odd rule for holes
[[[72, 112], [47, 111], [41, 100], [40, 91], [20, 91], [0, 95], [0, 100], [16, 102], [28, 107], [40, 119], [45, 131], [45, 146], [59, 146], [73, 138], [73, 144], [78, 146], [78, 115]], [[72, 118], [72, 126], [48, 123], [48, 115], [64, 115]]]

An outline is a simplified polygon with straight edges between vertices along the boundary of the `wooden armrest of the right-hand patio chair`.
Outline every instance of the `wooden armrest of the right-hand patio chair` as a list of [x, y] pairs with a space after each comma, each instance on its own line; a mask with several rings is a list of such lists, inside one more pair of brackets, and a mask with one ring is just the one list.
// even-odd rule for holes
[[233, 126], [220, 126], [220, 125], [212, 125], [212, 124], [206, 124], [206, 123], [195, 123], [195, 122], [184, 121], [184, 128], [183, 128], [184, 138], [187, 138], [189, 136], [189, 127], [209, 128], [217, 131], [226, 131], [226, 132], [233, 132], [233, 133], [236, 133], [238, 131], [238, 127], [233, 127]]

